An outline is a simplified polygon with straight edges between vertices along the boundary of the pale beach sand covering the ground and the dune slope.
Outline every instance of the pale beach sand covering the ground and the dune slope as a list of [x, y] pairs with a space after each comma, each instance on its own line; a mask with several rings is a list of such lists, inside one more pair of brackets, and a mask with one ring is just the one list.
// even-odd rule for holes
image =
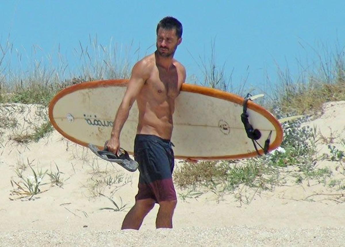
[[[345, 101], [327, 103], [323, 109], [305, 124], [317, 130], [319, 157], [329, 153], [326, 142], [341, 150], [345, 140]], [[173, 229], [155, 229], [155, 206], [139, 231], [120, 230], [134, 204], [138, 172], [96, 158], [57, 131], [38, 142], [18, 144], [14, 137], [31, 133], [44, 121], [46, 109], [38, 105], [0, 105], [0, 116], [1, 246], [345, 245], [345, 190], [318, 180], [287, 180], [268, 191], [242, 186], [232, 194], [208, 192], [185, 200], [186, 191], [177, 188]], [[5, 118], [18, 124], [5, 125]], [[57, 166], [61, 183], [52, 184], [46, 174], [41, 192], [29, 200], [14, 183], [21, 181], [16, 170], [24, 179], [33, 174], [28, 163], [36, 172], [55, 175]], [[319, 158], [315, 166], [331, 169], [331, 179], [345, 184], [344, 161]], [[121, 210], [100, 210], [116, 206], [99, 193], [111, 197]]]

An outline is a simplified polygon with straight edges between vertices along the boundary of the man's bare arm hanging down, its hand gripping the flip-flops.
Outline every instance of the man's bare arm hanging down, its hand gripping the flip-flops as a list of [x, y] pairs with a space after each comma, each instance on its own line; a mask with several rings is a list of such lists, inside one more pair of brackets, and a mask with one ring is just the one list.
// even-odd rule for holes
[[132, 74], [127, 84], [126, 93], [117, 110], [110, 139], [107, 143], [107, 147], [110, 152], [117, 153], [120, 148], [120, 132], [128, 118], [130, 108], [139, 95], [142, 87], [145, 84], [145, 81], [149, 77], [148, 69], [148, 64], [145, 61], [139, 61], [132, 69]]

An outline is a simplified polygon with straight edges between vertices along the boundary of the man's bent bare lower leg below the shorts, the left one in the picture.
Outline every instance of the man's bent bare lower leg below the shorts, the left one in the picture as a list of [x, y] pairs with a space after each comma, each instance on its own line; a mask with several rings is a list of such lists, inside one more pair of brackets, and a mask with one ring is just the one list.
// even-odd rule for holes
[[139, 230], [142, 221], [150, 210], [155, 206], [155, 200], [143, 199], [135, 202], [135, 205], [127, 213], [121, 229]]

